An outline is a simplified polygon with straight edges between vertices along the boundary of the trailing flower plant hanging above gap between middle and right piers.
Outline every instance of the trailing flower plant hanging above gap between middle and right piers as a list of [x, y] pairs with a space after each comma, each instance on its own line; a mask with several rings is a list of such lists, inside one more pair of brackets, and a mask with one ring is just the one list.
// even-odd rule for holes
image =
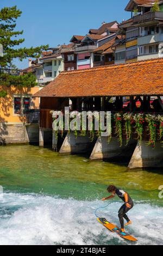
[[133, 113], [123, 114], [123, 120], [125, 121], [126, 145], [128, 145], [132, 134], [132, 124], [134, 123]]

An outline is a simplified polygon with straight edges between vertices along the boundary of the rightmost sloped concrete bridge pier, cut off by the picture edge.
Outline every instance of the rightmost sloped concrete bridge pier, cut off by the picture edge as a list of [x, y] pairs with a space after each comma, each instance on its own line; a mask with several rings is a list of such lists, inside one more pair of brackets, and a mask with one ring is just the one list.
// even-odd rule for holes
[[128, 169], [162, 168], [163, 148], [161, 143], [156, 143], [155, 148], [147, 146], [146, 141], [137, 143], [133, 156], [131, 157]]

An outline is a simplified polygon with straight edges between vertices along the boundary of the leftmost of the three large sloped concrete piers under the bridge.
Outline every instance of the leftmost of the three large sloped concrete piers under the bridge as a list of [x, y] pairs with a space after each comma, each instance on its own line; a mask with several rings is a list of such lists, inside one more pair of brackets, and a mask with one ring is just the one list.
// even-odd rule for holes
[[91, 142], [89, 135], [76, 136], [73, 132], [67, 133], [64, 142], [61, 145], [60, 154], [83, 154], [90, 153], [95, 145], [95, 141]]

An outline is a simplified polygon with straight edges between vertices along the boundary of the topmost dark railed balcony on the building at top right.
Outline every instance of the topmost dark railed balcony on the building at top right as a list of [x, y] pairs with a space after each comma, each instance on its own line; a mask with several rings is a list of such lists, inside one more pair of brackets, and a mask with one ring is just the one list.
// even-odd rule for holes
[[149, 12], [142, 15], [134, 16], [133, 24], [139, 25], [139, 23], [146, 23], [146, 22], [159, 21], [159, 20], [163, 20], [163, 12], [155, 11], [155, 12]]

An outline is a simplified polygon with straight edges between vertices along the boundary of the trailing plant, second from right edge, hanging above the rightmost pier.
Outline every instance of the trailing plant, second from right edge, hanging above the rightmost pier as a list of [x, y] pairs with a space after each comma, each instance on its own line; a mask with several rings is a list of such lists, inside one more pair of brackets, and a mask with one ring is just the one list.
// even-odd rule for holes
[[149, 142], [147, 145], [152, 145], [154, 148], [157, 140], [158, 117], [154, 114], [146, 114], [146, 121], [148, 123], [147, 131], [149, 132]]

